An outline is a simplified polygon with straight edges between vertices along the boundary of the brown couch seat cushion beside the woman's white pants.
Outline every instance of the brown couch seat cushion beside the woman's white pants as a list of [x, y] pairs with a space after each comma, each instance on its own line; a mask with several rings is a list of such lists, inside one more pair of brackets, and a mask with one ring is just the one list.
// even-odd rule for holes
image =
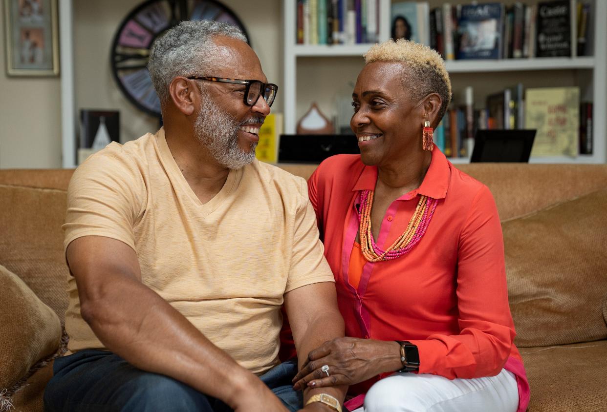
[[528, 412], [594, 412], [607, 405], [607, 341], [521, 350]]

